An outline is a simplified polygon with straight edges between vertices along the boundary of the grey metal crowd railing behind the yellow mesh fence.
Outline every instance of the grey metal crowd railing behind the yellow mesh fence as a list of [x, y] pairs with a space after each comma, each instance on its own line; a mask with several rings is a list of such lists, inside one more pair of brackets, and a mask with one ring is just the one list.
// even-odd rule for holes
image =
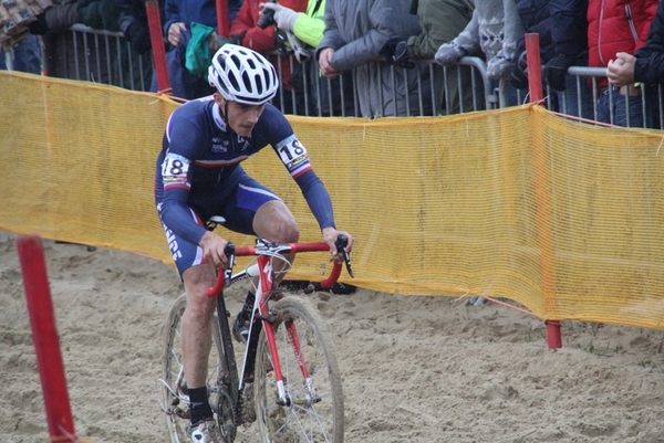
[[[156, 91], [152, 75], [152, 54], [138, 55], [133, 52], [122, 33], [93, 30], [82, 24], [73, 25], [55, 45], [55, 56], [66, 68], [48, 75], [64, 76], [107, 83], [135, 91]], [[45, 45], [46, 51], [49, 49]], [[293, 55], [274, 52], [277, 72], [283, 77], [284, 67], [292, 72], [290, 87], [281, 87], [273, 104], [287, 114], [304, 116], [362, 117], [361, 94], [359, 94], [359, 70], [345, 72], [338, 80], [320, 76], [312, 60], [298, 66]], [[53, 54], [45, 54], [53, 57]], [[65, 63], [64, 63], [65, 62]], [[48, 67], [48, 65], [46, 65]], [[377, 109], [365, 117], [395, 116], [385, 112], [386, 103], [396, 104], [400, 99], [403, 116], [450, 115], [483, 109], [497, 109], [523, 104], [528, 92], [515, 89], [507, 80], [494, 80], [487, 76], [486, 64], [481, 59], [465, 56], [457, 66], [443, 67], [433, 61], [419, 63], [411, 73], [404, 67], [392, 65], [385, 70], [382, 62], [372, 62], [363, 66], [377, 73], [378, 83], [391, 88], [380, 88]], [[387, 78], [385, 78], [387, 72]], [[147, 74], [146, 74], [147, 73]], [[397, 76], [407, 78], [417, 75], [415, 85], [407, 94], [398, 91]], [[600, 87], [605, 83], [603, 67], [572, 66], [568, 70], [569, 86], [566, 92], [544, 87], [544, 102], [549, 109], [562, 114], [585, 118], [587, 120], [620, 124], [622, 126], [664, 128], [664, 91], [661, 85], [643, 86], [639, 95], [611, 94], [612, 87]], [[402, 83], [403, 84], [403, 83]], [[364, 85], [360, 85], [363, 87]], [[385, 93], [385, 89], [387, 93]], [[602, 98], [602, 95], [605, 97]], [[404, 97], [405, 98], [402, 98]], [[624, 97], [624, 104], [618, 103]], [[600, 108], [602, 98], [604, 109]], [[405, 102], [404, 102], [405, 101]], [[635, 103], [639, 103], [636, 105]], [[630, 113], [616, 115], [615, 109], [636, 108], [643, 116], [642, 122], [633, 122]], [[605, 109], [609, 109], [605, 112]], [[624, 115], [626, 114], [626, 115]], [[400, 115], [400, 116], [401, 116]]]

